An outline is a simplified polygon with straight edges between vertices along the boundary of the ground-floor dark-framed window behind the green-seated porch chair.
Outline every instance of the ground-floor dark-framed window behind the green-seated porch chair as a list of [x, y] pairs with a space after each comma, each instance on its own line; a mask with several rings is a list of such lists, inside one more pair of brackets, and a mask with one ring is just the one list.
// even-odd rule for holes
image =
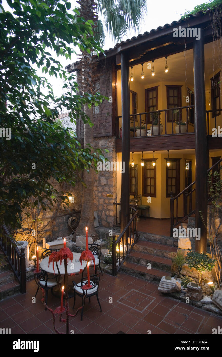
[[156, 197], [156, 165], [153, 159], [144, 159], [143, 166], [143, 196]]

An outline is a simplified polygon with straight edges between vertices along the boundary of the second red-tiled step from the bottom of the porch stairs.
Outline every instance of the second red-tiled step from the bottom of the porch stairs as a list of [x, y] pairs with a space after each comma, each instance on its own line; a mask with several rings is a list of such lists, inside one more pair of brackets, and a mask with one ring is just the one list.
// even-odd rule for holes
[[167, 272], [171, 271], [172, 260], [165, 257], [157, 257], [148, 253], [140, 253], [136, 251], [131, 251], [126, 259], [127, 262], [136, 263], [139, 265], [146, 266], [148, 263], [151, 264], [151, 268], [158, 270], [164, 270]]

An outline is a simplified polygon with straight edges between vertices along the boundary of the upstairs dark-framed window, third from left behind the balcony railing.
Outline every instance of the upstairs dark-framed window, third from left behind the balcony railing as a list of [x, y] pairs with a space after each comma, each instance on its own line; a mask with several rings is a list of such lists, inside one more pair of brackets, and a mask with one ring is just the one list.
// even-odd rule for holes
[[[181, 107], [181, 87], [166, 85], [166, 102], [167, 109]], [[179, 110], [174, 113], [173, 111], [167, 112], [167, 122], [179, 121]], [[182, 110], [180, 111], [180, 120], [182, 121]]]

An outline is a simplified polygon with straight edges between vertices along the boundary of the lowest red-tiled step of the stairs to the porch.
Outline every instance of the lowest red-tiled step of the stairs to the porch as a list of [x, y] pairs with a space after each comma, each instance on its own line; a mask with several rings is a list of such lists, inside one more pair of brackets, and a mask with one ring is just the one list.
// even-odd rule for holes
[[162, 276], [169, 276], [169, 272], [162, 271], [159, 269], [151, 268], [147, 269], [146, 266], [132, 263], [132, 262], [124, 262], [120, 271], [127, 273], [129, 275], [133, 275], [148, 281], [156, 281], [159, 282]]

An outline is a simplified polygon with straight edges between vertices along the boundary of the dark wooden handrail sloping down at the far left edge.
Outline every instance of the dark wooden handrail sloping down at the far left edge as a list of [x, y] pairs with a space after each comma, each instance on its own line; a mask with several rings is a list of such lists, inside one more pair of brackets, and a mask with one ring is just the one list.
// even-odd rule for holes
[[15, 241], [11, 237], [6, 225], [1, 226], [0, 247], [5, 253], [5, 256], [20, 283], [20, 292], [26, 292], [26, 264], [25, 264], [25, 248], [21, 250], [17, 247]]

